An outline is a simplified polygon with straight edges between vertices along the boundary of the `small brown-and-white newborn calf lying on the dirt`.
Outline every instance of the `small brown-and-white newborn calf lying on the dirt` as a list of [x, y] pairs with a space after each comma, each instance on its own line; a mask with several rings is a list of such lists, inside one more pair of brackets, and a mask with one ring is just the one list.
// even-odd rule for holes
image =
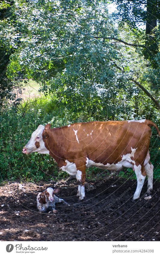
[[56, 203], [62, 202], [64, 205], [69, 205], [63, 199], [55, 196], [55, 194], [58, 193], [59, 191], [60, 191], [59, 188], [56, 188], [56, 189], [47, 188], [44, 192], [38, 193], [37, 209], [40, 212], [45, 212], [47, 209], [49, 209], [53, 212], [56, 212], [56, 210], [55, 210]]

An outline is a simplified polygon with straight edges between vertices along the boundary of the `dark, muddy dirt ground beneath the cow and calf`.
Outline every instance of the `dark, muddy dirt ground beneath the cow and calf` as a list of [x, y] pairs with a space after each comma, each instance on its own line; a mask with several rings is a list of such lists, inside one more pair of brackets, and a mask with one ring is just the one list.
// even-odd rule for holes
[[[100, 183], [101, 182], [101, 183]], [[104, 178], [86, 186], [86, 198], [78, 201], [75, 180], [58, 183], [8, 183], [0, 187], [1, 241], [159, 241], [159, 182], [152, 198], [132, 202], [135, 180]], [[56, 214], [36, 209], [38, 192], [59, 187]]]

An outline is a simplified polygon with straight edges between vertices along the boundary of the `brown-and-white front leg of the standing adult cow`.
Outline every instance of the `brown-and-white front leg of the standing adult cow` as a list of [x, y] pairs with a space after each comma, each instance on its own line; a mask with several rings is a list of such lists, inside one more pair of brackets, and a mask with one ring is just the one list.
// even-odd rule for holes
[[85, 169], [86, 166], [77, 167], [76, 179], [78, 181], [77, 196], [80, 200], [85, 198]]

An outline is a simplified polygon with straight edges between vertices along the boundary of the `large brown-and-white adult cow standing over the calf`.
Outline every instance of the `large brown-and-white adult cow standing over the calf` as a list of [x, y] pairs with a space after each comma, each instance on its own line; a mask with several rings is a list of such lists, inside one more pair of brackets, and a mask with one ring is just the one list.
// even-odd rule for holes
[[149, 141], [152, 121], [129, 120], [75, 123], [51, 129], [51, 125], [39, 125], [23, 153], [49, 154], [60, 169], [76, 175], [79, 199], [85, 197], [86, 168], [96, 166], [119, 171], [132, 168], [137, 177], [133, 199], [140, 196], [144, 179], [148, 177], [148, 194], [152, 191], [153, 165], [150, 163]]

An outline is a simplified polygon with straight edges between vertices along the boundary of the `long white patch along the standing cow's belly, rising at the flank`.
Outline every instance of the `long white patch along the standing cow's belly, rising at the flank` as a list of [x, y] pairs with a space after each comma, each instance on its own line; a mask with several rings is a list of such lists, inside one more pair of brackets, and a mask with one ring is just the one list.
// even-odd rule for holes
[[131, 147], [131, 153], [128, 153], [126, 155], [122, 156], [122, 160], [119, 161], [118, 163], [114, 164], [109, 164], [107, 163], [106, 165], [104, 165], [103, 163], [95, 163], [92, 160], [89, 160], [88, 157], [86, 158], [86, 167], [89, 168], [91, 166], [96, 166], [100, 169], [107, 169], [109, 171], [119, 171], [122, 170], [124, 167], [125, 168], [132, 168], [134, 167], [134, 160], [131, 160], [131, 157], [134, 157], [134, 153], [136, 151], [136, 148], [133, 149]]

